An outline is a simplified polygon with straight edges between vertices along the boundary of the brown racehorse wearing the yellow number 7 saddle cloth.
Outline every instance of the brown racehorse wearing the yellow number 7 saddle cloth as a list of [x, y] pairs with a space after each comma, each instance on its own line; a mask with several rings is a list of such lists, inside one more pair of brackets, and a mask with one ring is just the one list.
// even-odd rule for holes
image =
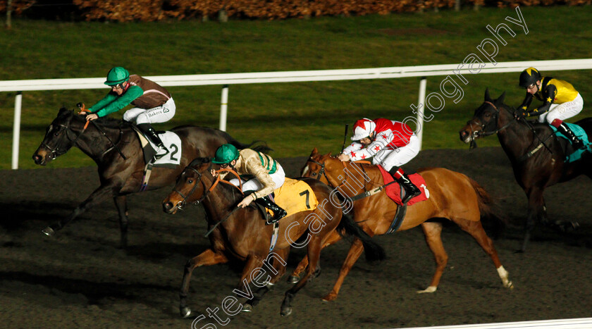
[[[374, 260], [384, 258], [383, 249], [359, 230], [351, 218], [347, 216], [342, 218], [340, 206], [328, 202], [332, 190], [318, 180], [303, 179], [312, 188], [319, 206], [312, 211], [301, 211], [282, 218], [279, 222], [276, 244], [273, 245], [270, 243], [273, 225], [266, 225], [263, 214], [257, 209], [237, 208], [236, 204], [243, 198], [240, 189], [230, 183], [218, 184], [224, 181], [220, 180], [220, 175], [214, 178], [210, 170], [209, 159], [195, 159], [180, 175], [173, 192], [163, 201], [163, 210], [166, 213], [175, 213], [192, 202], [203, 202], [206, 221], [211, 232], [209, 249], [190, 259], [185, 265], [180, 290], [181, 316], [187, 317], [191, 314], [187, 307], [187, 291], [192, 271], [197, 266], [226, 263], [230, 258], [246, 261], [239, 287], [248, 294], [236, 292], [236, 290], [235, 293], [249, 298], [249, 301], [242, 306], [242, 310], [251, 311], [252, 306], [256, 305], [263, 294], [269, 290], [269, 285], [276, 283], [285, 273], [285, 260], [290, 247], [306, 245], [309, 259], [307, 271], [297, 285], [285, 292], [281, 306], [280, 314], [288, 316], [292, 313], [291, 302], [296, 293], [306, 285], [307, 281], [318, 275], [321, 249], [335, 229], [343, 229], [361, 240], [364, 247], [369, 248], [366, 249], [366, 258]], [[304, 198], [302, 193], [300, 195]], [[304, 242], [300, 242], [302, 240], [300, 238], [303, 238]], [[268, 275], [267, 280], [261, 282], [258, 278], [266, 275], [264, 266], [268, 266], [272, 275]], [[263, 271], [263, 274], [260, 271]], [[253, 273], [257, 274], [256, 278]], [[259, 290], [252, 294], [249, 283], [259, 287]]]

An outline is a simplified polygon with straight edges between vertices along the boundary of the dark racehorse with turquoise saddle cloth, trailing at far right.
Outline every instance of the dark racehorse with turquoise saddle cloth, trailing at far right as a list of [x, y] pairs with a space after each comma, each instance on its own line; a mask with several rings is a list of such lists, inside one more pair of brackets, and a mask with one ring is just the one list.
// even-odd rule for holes
[[[502, 149], [512, 163], [514, 178], [526, 193], [529, 200], [526, 217], [524, 240], [519, 252], [526, 250], [531, 231], [540, 221], [543, 225], [565, 231], [576, 228], [577, 223], [554, 221], [547, 217], [547, 208], [543, 192], [546, 187], [558, 182], [566, 182], [581, 174], [592, 178], [592, 156], [584, 152], [579, 161], [565, 162], [560, 139], [546, 123], [530, 123], [518, 119], [514, 108], [503, 103], [505, 92], [498, 99], [491, 99], [485, 91], [485, 101], [479, 106], [467, 125], [460, 130], [460, 139], [465, 143], [474, 143], [475, 139], [497, 134]], [[592, 133], [592, 118], [576, 122], [584, 128], [586, 134]]]

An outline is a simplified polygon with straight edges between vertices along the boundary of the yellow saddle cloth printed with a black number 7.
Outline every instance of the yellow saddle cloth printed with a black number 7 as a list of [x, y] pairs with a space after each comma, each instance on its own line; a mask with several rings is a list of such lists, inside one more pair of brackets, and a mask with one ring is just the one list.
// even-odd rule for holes
[[[276, 204], [288, 213], [287, 216], [300, 211], [311, 211], [319, 206], [314, 191], [302, 180], [285, 178], [283, 185], [276, 189], [274, 193], [276, 194]], [[271, 213], [269, 210], [268, 212]]]

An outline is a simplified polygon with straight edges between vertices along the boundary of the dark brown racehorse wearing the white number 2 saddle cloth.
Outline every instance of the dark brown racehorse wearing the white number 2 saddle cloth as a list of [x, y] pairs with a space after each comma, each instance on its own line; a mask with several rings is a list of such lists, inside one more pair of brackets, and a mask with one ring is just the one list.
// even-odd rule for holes
[[[230, 143], [238, 149], [248, 147], [237, 142], [226, 132], [212, 128], [184, 125], [171, 131], [180, 137], [182, 145], [175, 145], [167, 156], [178, 156], [181, 147], [180, 164], [174, 169], [155, 166], [145, 190], [156, 190], [170, 185], [192, 159], [198, 156], [213, 156], [222, 144]], [[144, 180], [145, 162], [137, 133], [130, 123], [113, 118], [100, 118], [87, 125], [85, 116], [61, 108], [58, 116], [47, 127], [43, 141], [33, 154], [33, 160], [38, 165], [45, 166], [73, 146], [78, 147], [97, 163], [101, 185], [82, 201], [70, 216], [49, 225], [43, 232], [46, 235], [54, 235], [81, 213], [113, 197], [119, 215], [120, 245], [121, 248], [127, 247], [126, 195], [140, 192]]]

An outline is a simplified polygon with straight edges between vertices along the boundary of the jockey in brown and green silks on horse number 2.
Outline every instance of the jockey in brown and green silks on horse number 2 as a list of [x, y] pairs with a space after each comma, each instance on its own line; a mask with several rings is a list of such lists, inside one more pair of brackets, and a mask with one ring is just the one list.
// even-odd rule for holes
[[[135, 107], [123, 113], [123, 120], [136, 123], [137, 127], [159, 147], [155, 159], [168, 154], [168, 149], [151, 123], [164, 123], [173, 118], [176, 106], [171, 94], [156, 82], [144, 79], [140, 75], [130, 75], [128, 70], [122, 67], [109, 70], [105, 85], [111, 86], [111, 92], [89, 108], [87, 120], [119, 111], [131, 103]], [[159, 154], [161, 151], [164, 152]]]

